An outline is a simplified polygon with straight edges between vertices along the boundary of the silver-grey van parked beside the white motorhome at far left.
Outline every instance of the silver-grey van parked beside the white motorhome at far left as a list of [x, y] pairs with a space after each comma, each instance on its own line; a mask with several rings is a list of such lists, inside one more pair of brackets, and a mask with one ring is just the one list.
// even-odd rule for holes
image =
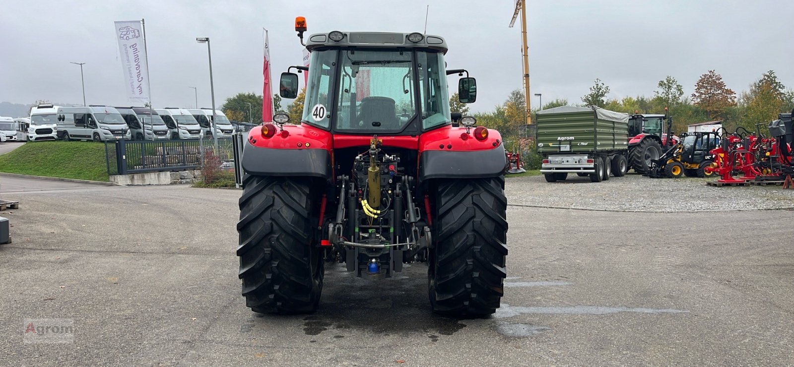
[[60, 107], [58, 109], [58, 136], [66, 141], [116, 141], [129, 140], [129, 127], [113, 107]]

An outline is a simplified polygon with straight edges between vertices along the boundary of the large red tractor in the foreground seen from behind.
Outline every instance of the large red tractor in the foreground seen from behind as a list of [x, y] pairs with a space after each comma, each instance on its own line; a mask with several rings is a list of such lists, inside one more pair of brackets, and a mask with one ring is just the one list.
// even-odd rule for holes
[[[296, 22], [303, 42], [305, 21]], [[300, 125], [286, 114], [252, 129], [237, 231], [242, 294], [252, 311], [318, 308], [326, 262], [378, 280], [425, 262], [432, 309], [488, 315], [503, 295], [507, 257], [505, 149], [471, 117], [452, 126], [447, 75], [461, 102], [468, 71], [447, 70], [443, 38], [330, 32], [305, 43], [310, 67], [290, 67], [294, 99], [308, 72]]]

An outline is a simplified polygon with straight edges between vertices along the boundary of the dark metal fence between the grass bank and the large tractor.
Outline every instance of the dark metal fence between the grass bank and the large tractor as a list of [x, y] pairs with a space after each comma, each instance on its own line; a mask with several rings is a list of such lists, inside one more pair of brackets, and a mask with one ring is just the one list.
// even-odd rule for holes
[[166, 141], [106, 141], [105, 160], [108, 175], [159, 171], [187, 171], [201, 168], [205, 157], [218, 156], [222, 167], [233, 165], [233, 139], [218, 139], [218, 150], [214, 140]]

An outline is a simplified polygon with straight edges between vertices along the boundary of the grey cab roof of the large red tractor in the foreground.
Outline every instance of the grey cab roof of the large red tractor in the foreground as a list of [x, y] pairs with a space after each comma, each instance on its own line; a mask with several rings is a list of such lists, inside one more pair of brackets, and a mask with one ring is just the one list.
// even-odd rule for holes
[[[341, 41], [333, 41], [329, 33], [314, 33], [306, 41], [306, 49], [314, 51], [318, 48], [342, 48], [342, 47], [367, 47], [367, 48], [431, 48], [436, 51], [446, 53], [447, 48], [444, 38], [422, 35], [422, 41], [408, 41], [408, 35], [412, 33], [385, 33], [385, 32], [342, 32], [345, 37]], [[421, 34], [421, 33], [420, 33]]]

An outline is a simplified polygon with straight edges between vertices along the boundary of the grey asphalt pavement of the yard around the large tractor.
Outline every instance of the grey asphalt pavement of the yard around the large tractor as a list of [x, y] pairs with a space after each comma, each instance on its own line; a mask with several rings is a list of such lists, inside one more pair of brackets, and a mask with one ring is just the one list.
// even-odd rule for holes
[[[792, 211], [509, 207], [490, 318], [432, 314], [423, 264], [380, 281], [330, 264], [320, 311], [257, 317], [237, 279], [239, 195], [8, 195], [0, 365], [794, 364]], [[25, 344], [29, 318], [73, 319], [74, 342]]]

